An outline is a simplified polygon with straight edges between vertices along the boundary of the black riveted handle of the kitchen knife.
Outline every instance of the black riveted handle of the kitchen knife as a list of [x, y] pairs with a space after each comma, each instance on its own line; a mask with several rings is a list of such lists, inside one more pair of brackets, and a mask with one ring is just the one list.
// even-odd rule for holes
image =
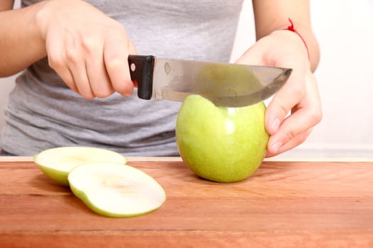
[[129, 73], [134, 85], [137, 86], [137, 96], [148, 100], [153, 92], [153, 55], [129, 55]]

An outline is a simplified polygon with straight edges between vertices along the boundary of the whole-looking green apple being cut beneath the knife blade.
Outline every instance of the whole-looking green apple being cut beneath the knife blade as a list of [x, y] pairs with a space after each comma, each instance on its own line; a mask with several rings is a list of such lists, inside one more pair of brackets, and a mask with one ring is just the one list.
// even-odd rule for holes
[[254, 174], [266, 155], [266, 106], [217, 107], [198, 95], [185, 98], [176, 121], [183, 162], [198, 176], [221, 183]]

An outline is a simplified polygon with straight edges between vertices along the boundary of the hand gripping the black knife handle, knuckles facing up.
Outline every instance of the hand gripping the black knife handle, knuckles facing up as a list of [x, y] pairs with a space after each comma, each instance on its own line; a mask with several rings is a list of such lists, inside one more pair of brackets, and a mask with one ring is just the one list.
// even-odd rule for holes
[[50, 67], [70, 89], [87, 99], [132, 94], [127, 57], [136, 48], [120, 23], [76, 0], [45, 1], [36, 23]]

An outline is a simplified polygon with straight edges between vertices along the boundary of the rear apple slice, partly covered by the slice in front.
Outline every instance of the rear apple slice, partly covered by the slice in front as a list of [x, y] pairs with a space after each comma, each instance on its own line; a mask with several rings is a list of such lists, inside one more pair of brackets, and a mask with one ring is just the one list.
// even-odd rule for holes
[[110, 150], [95, 147], [57, 147], [44, 150], [33, 157], [43, 173], [65, 186], [69, 185], [67, 175], [80, 164], [88, 162], [117, 162], [126, 164], [126, 158]]

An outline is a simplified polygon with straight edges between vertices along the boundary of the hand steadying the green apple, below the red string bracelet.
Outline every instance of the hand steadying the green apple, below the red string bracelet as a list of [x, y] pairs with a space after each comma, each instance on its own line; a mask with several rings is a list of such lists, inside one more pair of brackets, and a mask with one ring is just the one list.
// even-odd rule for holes
[[304, 142], [320, 122], [322, 111], [318, 86], [301, 38], [289, 30], [275, 31], [258, 40], [237, 63], [293, 69], [266, 109], [265, 126], [271, 135], [266, 156], [275, 156]]

